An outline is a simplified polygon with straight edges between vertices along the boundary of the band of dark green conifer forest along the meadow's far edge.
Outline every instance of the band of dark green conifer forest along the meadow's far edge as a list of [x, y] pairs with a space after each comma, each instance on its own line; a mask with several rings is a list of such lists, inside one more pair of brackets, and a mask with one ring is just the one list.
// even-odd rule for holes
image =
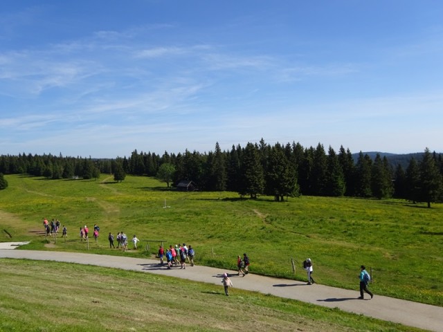
[[442, 154], [424, 150], [422, 160], [410, 158], [404, 169], [393, 167], [386, 156], [373, 159], [360, 151], [358, 158], [350, 149], [340, 147], [338, 153], [318, 143], [302, 147], [300, 143], [268, 145], [264, 140], [248, 142], [245, 147], [233, 145], [221, 151], [219, 143], [208, 153], [186, 150], [160, 156], [134, 150], [115, 159], [73, 158], [31, 154], [0, 156], [0, 173], [30, 174], [46, 178], [98, 178], [100, 173], [114, 174], [123, 181], [126, 174], [156, 176], [177, 185], [188, 180], [199, 190], [233, 191], [251, 199], [258, 195], [273, 196], [275, 201], [287, 197], [356, 196], [388, 199], [395, 197], [413, 202], [443, 201]]

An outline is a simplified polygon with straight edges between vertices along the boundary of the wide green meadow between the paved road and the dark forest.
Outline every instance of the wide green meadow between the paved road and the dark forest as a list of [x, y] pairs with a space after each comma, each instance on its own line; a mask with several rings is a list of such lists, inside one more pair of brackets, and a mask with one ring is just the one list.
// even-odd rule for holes
[[[123, 183], [105, 175], [98, 181], [6, 179], [0, 225], [13, 241], [32, 241], [26, 249], [87, 251], [78, 231], [97, 223], [101, 237], [98, 244], [90, 241], [91, 253], [156, 252], [159, 242], [150, 242], [148, 253], [109, 249], [107, 233], [123, 230], [142, 240], [186, 242], [195, 247], [197, 263], [208, 266], [234, 269], [237, 255], [247, 252], [251, 271], [263, 275], [303, 280], [301, 262], [310, 257], [316, 282], [350, 289], [358, 288], [359, 266], [365, 264], [373, 271], [374, 293], [443, 306], [442, 204], [427, 209], [405, 201], [311, 196], [253, 201], [233, 192], [175, 192], [135, 176]], [[44, 217], [60, 219], [69, 241], [47, 243]]]

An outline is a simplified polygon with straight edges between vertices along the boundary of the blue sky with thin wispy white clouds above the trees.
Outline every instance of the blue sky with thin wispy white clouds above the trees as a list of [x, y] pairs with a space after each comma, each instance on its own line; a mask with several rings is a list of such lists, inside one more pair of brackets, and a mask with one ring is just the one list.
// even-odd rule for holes
[[20, 1], [0, 154], [443, 152], [442, 1]]

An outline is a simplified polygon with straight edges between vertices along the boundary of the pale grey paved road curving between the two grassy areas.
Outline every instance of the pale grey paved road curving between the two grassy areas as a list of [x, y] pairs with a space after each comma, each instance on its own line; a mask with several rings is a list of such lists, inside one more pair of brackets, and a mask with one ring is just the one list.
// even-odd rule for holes
[[350, 291], [318, 284], [308, 286], [304, 282], [254, 274], [237, 277], [236, 271], [227, 271], [207, 266], [187, 266], [185, 270], [180, 268], [168, 270], [165, 266], [160, 266], [159, 261], [154, 259], [93, 255], [79, 252], [8, 250], [17, 248], [18, 245], [5, 246], [5, 243], [1, 244], [0, 258], [61, 261], [107, 268], [121, 268], [217, 285], [220, 284], [219, 278], [221, 275], [229, 273], [235, 288], [298, 299], [302, 302], [327, 306], [329, 308], [340, 308], [343, 311], [374, 317], [379, 320], [396, 322], [429, 331], [443, 332], [443, 307], [377, 294], [374, 295], [373, 299], [369, 299], [368, 295], [366, 295], [367, 299], [365, 300], [357, 299], [359, 297], [358, 281], [356, 282], [356, 290]]

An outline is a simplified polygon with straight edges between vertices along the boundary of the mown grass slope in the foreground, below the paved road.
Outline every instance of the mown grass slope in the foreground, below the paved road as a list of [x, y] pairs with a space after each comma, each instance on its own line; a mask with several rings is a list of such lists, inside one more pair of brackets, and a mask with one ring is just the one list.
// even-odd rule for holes
[[50, 261], [0, 259], [0, 331], [419, 331], [212, 284]]

